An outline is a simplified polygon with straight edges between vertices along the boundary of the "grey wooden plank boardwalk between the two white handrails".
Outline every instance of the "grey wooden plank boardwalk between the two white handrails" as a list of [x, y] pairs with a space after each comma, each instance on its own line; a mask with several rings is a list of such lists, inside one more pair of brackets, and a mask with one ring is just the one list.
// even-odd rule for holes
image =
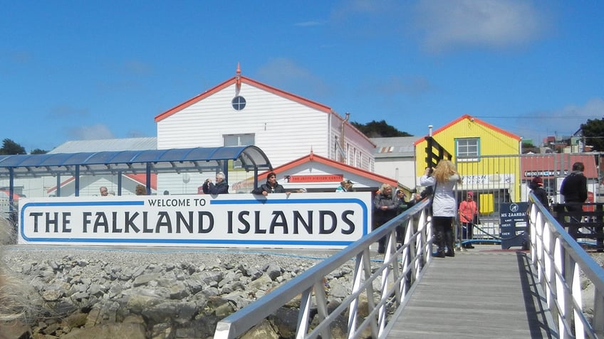
[[434, 258], [387, 338], [555, 338], [528, 256], [476, 245]]

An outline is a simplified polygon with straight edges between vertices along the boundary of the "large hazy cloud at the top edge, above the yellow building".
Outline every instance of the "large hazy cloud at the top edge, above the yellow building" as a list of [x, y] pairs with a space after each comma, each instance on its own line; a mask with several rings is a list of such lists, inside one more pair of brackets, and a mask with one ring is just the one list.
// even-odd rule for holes
[[542, 8], [524, 0], [422, 0], [415, 22], [427, 50], [509, 48], [541, 36], [548, 26]]

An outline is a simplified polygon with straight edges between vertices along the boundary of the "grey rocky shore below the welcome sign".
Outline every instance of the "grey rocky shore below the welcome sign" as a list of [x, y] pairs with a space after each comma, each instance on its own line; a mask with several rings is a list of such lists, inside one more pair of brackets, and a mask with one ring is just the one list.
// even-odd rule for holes
[[[169, 339], [212, 338], [222, 318], [333, 253], [11, 245], [2, 254], [22, 313], [4, 338]], [[331, 298], [348, 293], [352, 265], [329, 277]], [[297, 306], [246, 338], [288, 337]]]

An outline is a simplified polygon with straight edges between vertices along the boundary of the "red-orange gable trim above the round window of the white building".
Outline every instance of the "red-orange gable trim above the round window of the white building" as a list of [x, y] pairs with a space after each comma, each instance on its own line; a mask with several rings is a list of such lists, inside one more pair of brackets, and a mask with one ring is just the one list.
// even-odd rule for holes
[[182, 104], [178, 104], [177, 106], [172, 107], [171, 109], [168, 109], [166, 112], [163, 112], [163, 113], [157, 115], [157, 117], [155, 117], [155, 122], [160, 122], [163, 119], [170, 117], [170, 115], [175, 114], [176, 112], [179, 112], [182, 109], [185, 109], [185, 108], [191, 106], [192, 104], [195, 104], [195, 103], [201, 101], [202, 99], [205, 99], [205, 98], [209, 97], [210, 95], [213, 95], [214, 93], [219, 92], [220, 90], [223, 90], [226, 87], [229, 87], [232, 84], [236, 84], [237, 81], [239, 81], [241, 83], [245, 83], [247, 85], [258, 87], [261, 90], [266, 90], [266, 92], [271, 92], [275, 95], [285, 97], [286, 99], [290, 99], [294, 102], [298, 102], [299, 104], [304, 104], [308, 107], [317, 109], [319, 111], [323, 111], [326, 113], [331, 112], [331, 108], [324, 104], [319, 104], [318, 102], [313, 102], [312, 100], [300, 97], [298, 95], [291, 94], [289, 92], [285, 92], [283, 90], [279, 90], [276, 87], [272, 87], [272, 86], [263, 84], [262, 82], [258, 82], [256, 80], [250, 79], [249, 77], [244, 77], [243, 75], [240, 75], [239, 80], [237, 79], [236, 76], [231, 77], [229, 80], [222, 82], [221, 84], [217, 85], [216, 87], [213, 87], [210, 90], [207, 90], [206, 92], [203, 92], [202, 94], [197, 95], [196, 97], [192, 97], [191, 99], [188, 99], [187, 101], [183, 102]]

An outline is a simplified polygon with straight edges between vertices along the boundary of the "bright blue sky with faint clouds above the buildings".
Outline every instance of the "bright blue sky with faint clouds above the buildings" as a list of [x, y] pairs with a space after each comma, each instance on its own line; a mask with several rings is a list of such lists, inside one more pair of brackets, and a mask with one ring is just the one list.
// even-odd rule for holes
[[533, 140], [604, 117], [604, 1], [0, 5], [0, 139], [26, 151], [156, 136], [157, 114], [237, 63], [354, 122], [415, 136], [463, 114]]

